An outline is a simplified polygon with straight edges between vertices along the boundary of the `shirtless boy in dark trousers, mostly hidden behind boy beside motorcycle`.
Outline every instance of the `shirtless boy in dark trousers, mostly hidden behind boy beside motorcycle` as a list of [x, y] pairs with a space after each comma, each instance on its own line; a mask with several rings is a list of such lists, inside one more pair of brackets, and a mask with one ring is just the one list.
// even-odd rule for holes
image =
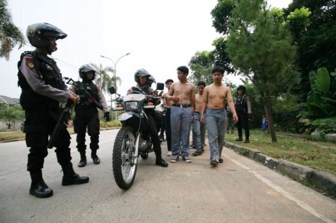
[[168, 92], [164, 93], [163, 96], [163, 108], [165, 109], [165, 139], [167, 141], [168, 152], [167, 156], [172, 156], [172, 128], [171, 128], [171, 108], [173, 105], [172, 100], [167, 100], [166, 96], [171, 89], [171, 85], [174, 83], [172, 79], [165, 81], [165, 87]]

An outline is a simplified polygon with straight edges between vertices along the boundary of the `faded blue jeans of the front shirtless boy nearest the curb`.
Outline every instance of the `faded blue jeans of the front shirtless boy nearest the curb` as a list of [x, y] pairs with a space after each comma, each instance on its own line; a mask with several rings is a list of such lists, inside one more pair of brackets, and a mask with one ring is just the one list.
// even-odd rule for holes
[[206, 109], [205, 121], [210, 147], [210, 159], [219, 159], [222, 156], [227, 116], [225, 109]]

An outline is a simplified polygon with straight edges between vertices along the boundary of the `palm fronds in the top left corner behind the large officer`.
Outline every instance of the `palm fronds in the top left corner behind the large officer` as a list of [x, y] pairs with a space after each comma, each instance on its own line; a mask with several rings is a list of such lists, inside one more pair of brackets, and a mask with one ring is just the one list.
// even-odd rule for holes
[[13, 47], [19, 44], [21, 48], [26, 40], [21, 30], [14, 25], [7, 6], [7, 0], [0, 0], [0, 57], [8, 61]]

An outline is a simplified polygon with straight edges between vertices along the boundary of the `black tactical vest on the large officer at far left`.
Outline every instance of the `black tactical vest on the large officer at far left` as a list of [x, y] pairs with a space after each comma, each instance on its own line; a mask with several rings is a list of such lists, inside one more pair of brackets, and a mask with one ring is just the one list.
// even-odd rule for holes
[[35, 51], [25, 51], [21, 54], [18, 62], [18, 86], [21, 87], [22, 93], [20, 103], [23, 109], [36, 109], [39, 106], [58, 106], [58, 102], [50, 97], [36, 93], [28, 84], [26, 78], [20, 71], [20, 66], [25, 55], [32, 57], [34, 70], [40, 76], [41, 80], [45, 81], [46, 85], [54, 88], [65, 90], [66, 86], [62, 78], [62, 74], [58, 69], [56, 62], [51, 58]]

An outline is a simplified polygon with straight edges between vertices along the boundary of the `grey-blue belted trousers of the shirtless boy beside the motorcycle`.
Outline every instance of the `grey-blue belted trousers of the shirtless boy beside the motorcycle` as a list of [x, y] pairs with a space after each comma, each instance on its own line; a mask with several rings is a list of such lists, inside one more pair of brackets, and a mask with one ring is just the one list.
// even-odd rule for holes
[[191, 127], [191, 107], [176, 107], [171, 109], [172, 154], [178, 155], [181, 147], [182, 157], [188, 156], [189, 134]]

